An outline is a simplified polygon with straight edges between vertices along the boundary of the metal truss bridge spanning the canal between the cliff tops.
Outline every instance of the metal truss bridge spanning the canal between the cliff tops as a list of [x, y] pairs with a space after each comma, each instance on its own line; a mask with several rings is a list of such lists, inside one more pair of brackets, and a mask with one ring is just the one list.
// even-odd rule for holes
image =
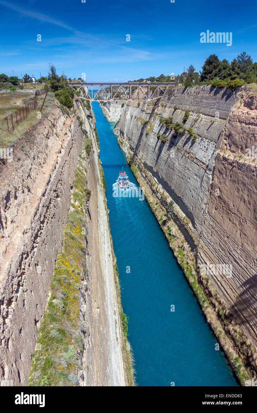
[[[176, 86], [176, 83], [107, 83], [107, 82], [70, 82], [68, 83], [85, 98], [92, 101], [101, 100], [153, 100], [163, 95], [164, 90]], [[91, 86], [91, 95], [89, 87]], [[93, 96], [93, 86], [98, 86], [98, 90]], [[106, 87], [108, 90], [106, 91]], [[114, 90], [113, 90], [114, 88]], [[154, 88], [154, 89], [153, 89]]]

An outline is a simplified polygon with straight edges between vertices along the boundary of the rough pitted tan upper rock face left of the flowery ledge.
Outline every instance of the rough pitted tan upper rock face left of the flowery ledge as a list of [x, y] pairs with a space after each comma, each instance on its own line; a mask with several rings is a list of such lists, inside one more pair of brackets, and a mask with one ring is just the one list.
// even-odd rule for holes
[[0, 377], [13, 385], [28, 378], [82, 140], [75, 117], [52, 109], [26, 134], [24, 150], [14, 149], [21, 159], [2, 167]]

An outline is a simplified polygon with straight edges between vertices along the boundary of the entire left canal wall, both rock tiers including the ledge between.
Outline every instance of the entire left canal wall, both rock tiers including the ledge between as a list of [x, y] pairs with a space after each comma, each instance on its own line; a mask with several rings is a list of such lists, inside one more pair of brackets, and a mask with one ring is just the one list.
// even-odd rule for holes
[[[118, 311], [120, 298], [113, 273], [113, 249], [94, 116], [77, 97], [71, 111], [60, 107], [57, 101], [54, 103], [41, 121], [21, 137], [19, 145], [14, 147], [12, 162], [2, 162], [0, 166], [0, 380], [3, 385], [26, 385], [33, 354], [32, 385], [38, 385], [40, 380], [45, 384], [39, 385], [64, 385], [64, 380], [67, 385], [68, 380], [68, 385], [123, 386], [126, 377], [124, 337]], [[85, 138], [87, 143], [91, 142], [87, 155]], [[83, 179], [89, 191], [83, 206], [79, 200], [85, 197], [84, 187], [79, 197], [77, 194], [81, 168], [86, 171]], [[77, 239], [75, 228], [67, 229], [66, 225], [74, 224], [73, 215], [78, 207], [82, 211], [80, 225], [85, 236], [83, 240], [78, 239], [78, 251], [82, 255], [77, 255], [83, 265], [66, 259], [65, 270], [64, 265], [56, 267], [58, 252], [65, 247], [67, 237]], [[68, 214], [73, 215], [67, 223]], [[61, 257], [65, 260], [64, 250]], [[64, 317], [62, 300], [69, 294], [66, 287], [74, 281], [67, 279], [73, 268], [71, 264], [74, 268], [78, 264], [77, 272], [72, 273], [75, 280], [78, 278], [77, 290], [72, 292], [71, 313], [74, 310], [76, 314], [75, 324], [72, 328], [68, 323], [59, 325], [62, 322], [58, 318], [58, 328], [52, 330], [47, 317], [53, 306], [56, 306], [54, 314], [61, 311], [59, 317], [61, 320]], [[57, 290], [56, 278], [52, 278], [59, 268], [64, 268], [63, 280], [67, 281], [62, 290]], [[65, 346], [61, 347], [62, 337], [69, 343], [66, 350]], [[49, 354], [45, 358], [46, 348], [49, 352], [55, 349], [52, 359]], [[64, 357], [59, 360], [56, 355], [60, 349]], [[78, 353], [74, 356], [76, 349]], [[49, 358], [50, 367], [44, 364]], [[74, 368], [71, 375], [67, 373], [67, 377], [58, 373], [59, 381], [56, 381], [53, 366], [58, 372], [69, 366], [78, 368]]]

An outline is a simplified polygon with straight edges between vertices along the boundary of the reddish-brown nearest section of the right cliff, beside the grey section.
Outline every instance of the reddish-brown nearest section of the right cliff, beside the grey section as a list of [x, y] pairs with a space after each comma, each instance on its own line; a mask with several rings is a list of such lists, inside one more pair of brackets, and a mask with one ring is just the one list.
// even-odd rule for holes
[[[199, 261], [226, 263], [231, 274], [210, 277], [255, 346], [257, 344], [257, 136], [256, 97], [246, 93], [231, 111], [217, 154]], [[254, 146], [255, 147], [255, 146]], [[252, 157], [245, 157], [250, 148]], [[218, 195], [217, 195], [218, 190]]]

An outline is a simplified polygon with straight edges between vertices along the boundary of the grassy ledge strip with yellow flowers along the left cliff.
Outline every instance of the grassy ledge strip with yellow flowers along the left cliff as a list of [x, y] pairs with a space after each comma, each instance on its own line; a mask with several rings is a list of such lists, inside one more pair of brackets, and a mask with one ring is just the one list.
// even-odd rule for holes
[[[83, 149], [86, 142], [84, 140]], [[38, 332], [32, 355], [28, 386], [75, 386], [83, 331], [80, 325], [81, 279], [85, 278], [87, 251], [84, 234], [85, 203], [90, 191], [83, 158], [75, 170], [69, 211], [63, 235], [63, 248], [57, 256], [50, 285], [50, 299]]]

